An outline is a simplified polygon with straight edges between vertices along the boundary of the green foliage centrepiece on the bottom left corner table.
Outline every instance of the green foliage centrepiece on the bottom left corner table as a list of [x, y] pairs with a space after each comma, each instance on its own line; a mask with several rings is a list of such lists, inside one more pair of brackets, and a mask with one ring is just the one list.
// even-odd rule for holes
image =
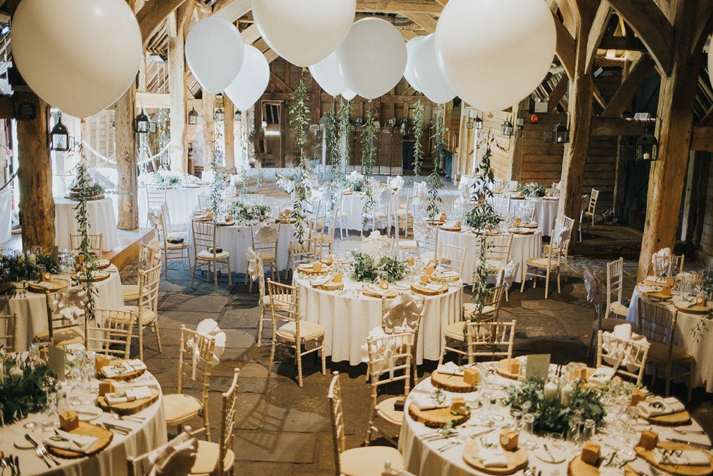
[[0, 412], [5, 424], [42, 411], [47, 405], [43, 387], [53, 377], [46, 365], [32, 365], [0, 351]]

